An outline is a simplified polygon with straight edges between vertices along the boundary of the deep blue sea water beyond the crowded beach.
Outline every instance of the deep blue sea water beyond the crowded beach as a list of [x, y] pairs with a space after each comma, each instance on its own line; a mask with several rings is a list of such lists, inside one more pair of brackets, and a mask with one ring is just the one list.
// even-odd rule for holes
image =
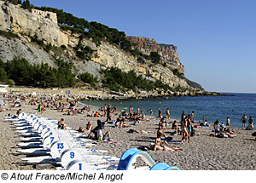
[[[226, 94], [226, 93], [223, 93]], [[166, 116], [166, 109], [169, 108], [171, 118], [180, 119], [182, 112], [191, 114], [195, 112], [195, 121], [206, 117], [208, 123], [213, 123], [218, 119], [220, 123], [226, 123], [230, 117], [230, 125], [241, 127], [241, 117], [243, 114], [250, 116], [256, 121], [256, 94], [233, 94], [232, 96], [179, 96], [167, 98], [154, 98], [144, 100], [118, 100], [118, 101], [96, 101], [84, 100], [84, 104], [92, 106], [104, 106], [105, 104], [117, 105], [119, 110], [128, 112], [133, 106], [133, 112], [137, 112], [137, 107], [143, 109], [149, 115], [148, 110], [153, 110], [153, 115], [158, 115], [158, 109], [162, 115]]]

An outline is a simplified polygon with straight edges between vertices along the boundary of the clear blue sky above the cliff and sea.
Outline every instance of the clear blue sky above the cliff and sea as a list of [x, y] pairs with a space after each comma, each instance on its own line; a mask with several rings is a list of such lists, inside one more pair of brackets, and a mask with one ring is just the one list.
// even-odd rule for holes
[[256, 93], [256, 0], [30, 0], [174, 44], [185, 77], [207, 91]]

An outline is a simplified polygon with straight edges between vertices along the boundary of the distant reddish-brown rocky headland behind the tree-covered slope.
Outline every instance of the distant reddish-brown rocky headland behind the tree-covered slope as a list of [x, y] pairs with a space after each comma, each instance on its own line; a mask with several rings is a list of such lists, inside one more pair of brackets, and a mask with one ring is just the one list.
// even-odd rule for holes
[[172, 44], [159, 44], [152, 38], [147, 37], [127, 37], [131, 43], [134, 43], [134, 47], [139, 49], [143, 54], [150, 54], [151, 52], [157, 52], [161, 56], [160, 63], [166, 63], [167, 68], [171, 71], [177, 69], [184, 74], [184, 66], [181, 64], [177, 47]]

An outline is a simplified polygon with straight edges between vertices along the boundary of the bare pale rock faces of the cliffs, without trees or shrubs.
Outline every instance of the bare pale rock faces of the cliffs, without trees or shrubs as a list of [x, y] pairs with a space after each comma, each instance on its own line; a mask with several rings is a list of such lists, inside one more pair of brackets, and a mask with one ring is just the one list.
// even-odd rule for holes
[[[172, 88], [182, 87], [184, 89], [194, 89], [183, 78], [179, 78], [172, 73], [172, 68], [178, 68], [183, 72], [183, 65], [180, 63], [177, 55], [177, 48], [168, 45], [160, 46], [155, 44], [155, 49], [160, 51], [162, 60], [168, 64], [168, 67], [152, 64], [140, 64], [137, 58], [118, 47], [102, 42], [96, 46], [90, 39], [79, 39], [79, 34], [73, 34], [71, 31], [63, 31], [58, 26], [56, 14], [44, 12], [36, 9], [28, 11], [21, 9], [17, 5], [4, 3], [0, 1], [0, 30], [11, 31], [18, 37], [0, 36], [0, 59], [3, 61], [12, 60], [15, 57], [24, 57], [31, 63], [48, 63], [49, 66], [55, 66], [56, 59], [63, 59], [73, 63], [73, 72], [75, 74], [89, 72], [99, 78], [101, 69], [111, 66], [117, 66], [123, 71], [134, 70], [137, 74], [143, 75], [150, 80], [159, 79], [163, 83], [169, 84]], [[50, 43], [55, 46], [55, 50], [46, 52], [36, 43], [32, 43], [31, 36], [37, 35], [45, 44]], [[83, 46], [89, 46], [94, 50], [89, 61], [81, 60], [76, 56], [74, 48], [79, 40]], [[154, 42], [152, 40], [152, 42]], [[149, 45], [149, 44], [148, 44]], [[61, 50], [65, 46], [67, 49]], [[149, 49], [146, 49], [147, 52]]]

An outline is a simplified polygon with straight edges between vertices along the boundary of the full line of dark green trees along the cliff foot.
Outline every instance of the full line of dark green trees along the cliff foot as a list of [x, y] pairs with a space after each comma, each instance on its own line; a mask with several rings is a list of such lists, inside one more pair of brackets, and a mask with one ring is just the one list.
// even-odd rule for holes
[[68, 88], [75, 87], [77, 82], [89, 83], [90, 86], [96, 87], [102, 81], [102, 86], [113, 91], [123, 91], [126, 89], [143, 89], [153, 90], [156, 88], [172, 88], [160, 80], [148, 81], [142, 75], [135, 71], [121, 71], [117, 67], [101, 70], [102, 80], [94, 77], [88, 72], [81, 73], [77, 76], [72, 72], [73, 64], [64, 60], [56, 60], [56, 67], [49, 66], [47, 63], [41, 65], [32, 65], [24, 58], [15, 58], [8, 60], [6, 63], [0, 60], [0, 83], [8, 83], [12, 86], [31, 85], [42, 88]]

